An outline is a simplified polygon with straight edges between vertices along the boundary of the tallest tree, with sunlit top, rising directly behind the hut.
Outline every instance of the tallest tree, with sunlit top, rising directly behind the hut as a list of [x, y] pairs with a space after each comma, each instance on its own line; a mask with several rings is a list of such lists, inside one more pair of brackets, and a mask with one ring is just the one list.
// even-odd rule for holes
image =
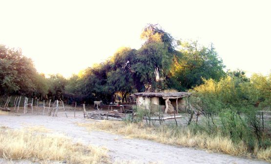
[[176, 41], [160, 26], [148, 24], [141, 38], [144, 45], [138, 50], [133, 65], [134, 79], [141, 85], [138, 91], [154, 91], [167, 88], [167, 75], [174, 59], [180, 59], [181, 53], [175, 50]]

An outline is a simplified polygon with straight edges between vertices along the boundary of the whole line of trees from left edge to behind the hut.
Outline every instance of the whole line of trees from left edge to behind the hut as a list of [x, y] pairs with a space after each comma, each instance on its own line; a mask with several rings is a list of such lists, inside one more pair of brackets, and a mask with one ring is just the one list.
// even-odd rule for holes
[[20, 50], [1, 46], [0, 92], [86, 102], [109, 102], [118, 94], [124, 101], [134, 92], [184, 91], [202, 84], [203, 79], [218, 81], [226, 75], [212, 45], [177, 41], [157, 24], [147, 24], [140, 37], [144, 43], [139, 49], [122, 47], [106, 61], [68, 80], [59, 74], [45, 78]]

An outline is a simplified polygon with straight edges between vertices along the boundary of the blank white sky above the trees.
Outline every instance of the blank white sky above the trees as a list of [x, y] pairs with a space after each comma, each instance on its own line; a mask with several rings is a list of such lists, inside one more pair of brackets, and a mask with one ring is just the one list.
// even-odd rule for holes
[[212, 42], [228, 69], [271, 70], [269, 0], [0, 0], [0, 44], [21, 47], [45, 74], [69, 77], [119, 47], [138, 49], [147, 23]]

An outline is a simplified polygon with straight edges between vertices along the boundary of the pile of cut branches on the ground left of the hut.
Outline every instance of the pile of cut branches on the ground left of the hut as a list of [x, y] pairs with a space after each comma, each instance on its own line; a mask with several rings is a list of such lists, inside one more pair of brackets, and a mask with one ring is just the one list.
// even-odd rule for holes
[[88, 113], [88, 116], [89, 118], [96, 120], [122, 121], [124, 114], [115, 111], [104, 112], [102, 110], [95, 110], [94, 112]]

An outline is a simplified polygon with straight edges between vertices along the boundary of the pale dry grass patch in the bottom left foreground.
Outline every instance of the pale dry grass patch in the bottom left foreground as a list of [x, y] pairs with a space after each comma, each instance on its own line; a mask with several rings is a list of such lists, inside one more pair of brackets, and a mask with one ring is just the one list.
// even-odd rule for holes
[[0, 128], [0, 157], [5, 160], [66, 161], [69, 164], [107, 163], [107, 150], [73, 143], [65, 136]]

